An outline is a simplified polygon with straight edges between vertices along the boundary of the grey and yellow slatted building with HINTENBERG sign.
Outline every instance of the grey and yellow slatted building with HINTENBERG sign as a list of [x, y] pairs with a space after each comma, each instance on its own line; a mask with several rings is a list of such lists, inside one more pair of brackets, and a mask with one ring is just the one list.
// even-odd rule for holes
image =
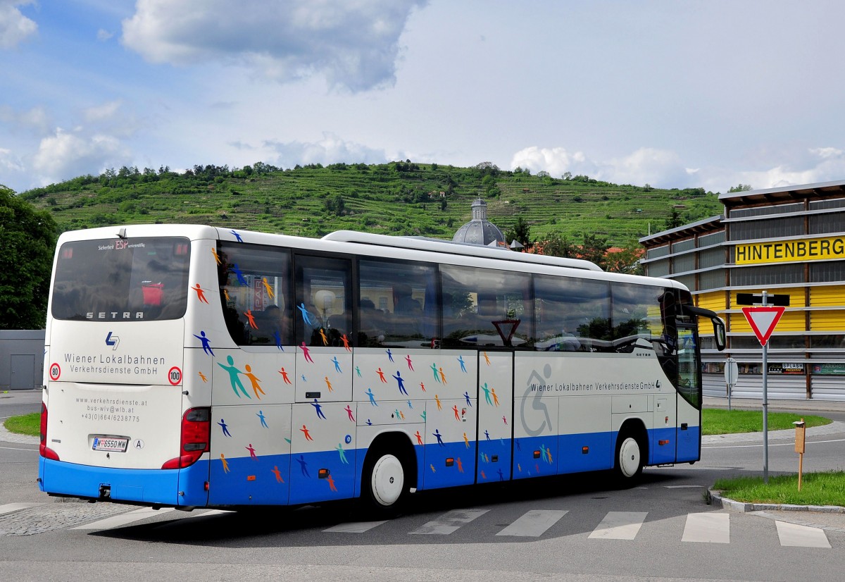
[[[789, 296], [768, 342], [769, 398], [845, 400], [845, 181], [719, 195], [721, 216], [640, 239], [652, 277], [684, 283], [728, 325], [728, 349], [703, 338], [704, 389], [727, 396], [724, 363], [739, 363], [733, 396], [762, 395], [762, 349], [738, 293]], [[706, 332], [706, 328], [702, 327]]]

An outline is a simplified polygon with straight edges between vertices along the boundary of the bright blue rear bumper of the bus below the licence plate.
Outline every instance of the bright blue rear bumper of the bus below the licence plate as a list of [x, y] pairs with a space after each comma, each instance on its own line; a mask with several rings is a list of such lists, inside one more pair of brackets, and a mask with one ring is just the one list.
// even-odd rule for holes
[[109, 469], [41, 458], [39, 467], [39, 486], [50, 495], [144, 505], [204, 506], [207, 493], [187, 494], [180, 482], [207, 479], [208, 464], [202, 461], [187, 469]]

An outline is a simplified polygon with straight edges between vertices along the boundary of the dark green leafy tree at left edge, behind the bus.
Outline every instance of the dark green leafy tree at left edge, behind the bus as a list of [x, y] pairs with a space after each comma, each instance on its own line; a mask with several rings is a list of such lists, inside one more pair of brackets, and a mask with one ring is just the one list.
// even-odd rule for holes
[[41, 329], [46, 322], [58, 228], [0, 184], [0, 329]]

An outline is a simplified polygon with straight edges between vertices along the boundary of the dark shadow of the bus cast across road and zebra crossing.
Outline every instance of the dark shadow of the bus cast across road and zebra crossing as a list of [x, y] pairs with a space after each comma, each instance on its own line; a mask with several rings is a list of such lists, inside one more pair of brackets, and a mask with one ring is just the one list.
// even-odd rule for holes
[[[690, 511], [716, 511], [708, 507], [701, 486], [678, 485], [688, 481], [689, 474], [681, 471], [647, 470], [639, 483], [630, 488], [619, 488], [608, 472], [556, 475], [531, 480], [508, 481], [450, 488], [438, 491], [421, 491], [412, 496], [405, 513], [371, 529], [348, 533], [326, 532], [341, 524], [372, 522], [373, 516], [363, 504], [355, 501], [330, 502], [301, 508], [242, 508], [231, 513], [214, 513], [194, 516], [168, 513], [168, 519], [127, 525], [114, 530], [92, 532], [90, 535], [118, 538], [129, 541], [155, 541], [188, 546], [210, 547], [303, 547], [331, 546], [391, 546], [408, 543], [450, 544], [480, 542], [495, 543], [536, 541], [564, 535], [575, 535], [593, 530], [600, 518], [561, 520], [538, 537], [499, 536], [496, 532], [532, 508], [561, 508], [567, 511], [590, 514], [613, 511], [647, 512], [651, 507], [661, 508], [659, 519], [667, 519]], [[676, 486], [687, 489], [679, 508], [667, 508], [664, 502], [645, 502], [645, 489]], [[487, 513], [475, 524], [467, 524], [451, 535], [408, 536], [423, 524], [437, 519], [446, 512], [470, 508], [483, 508]], [[507, 516], [497, 514], [506, 510]], [[671, 514], [668, 514], [667, 511]], [[603, 513], [602, 513], [603, 514]], [[474, 527], [473, 527], [474, 526]], [[354, 528], [352, 528], [354, 529]], [[482, 539], [479, 538], [482, 532]]]

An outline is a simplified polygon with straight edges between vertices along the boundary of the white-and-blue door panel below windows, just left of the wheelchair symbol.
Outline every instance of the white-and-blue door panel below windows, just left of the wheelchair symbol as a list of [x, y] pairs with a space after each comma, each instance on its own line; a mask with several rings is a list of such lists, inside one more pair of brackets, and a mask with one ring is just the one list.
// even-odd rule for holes
[[513, 352], [478, 353], [476, 480], [510, 480], [513, 458]]

